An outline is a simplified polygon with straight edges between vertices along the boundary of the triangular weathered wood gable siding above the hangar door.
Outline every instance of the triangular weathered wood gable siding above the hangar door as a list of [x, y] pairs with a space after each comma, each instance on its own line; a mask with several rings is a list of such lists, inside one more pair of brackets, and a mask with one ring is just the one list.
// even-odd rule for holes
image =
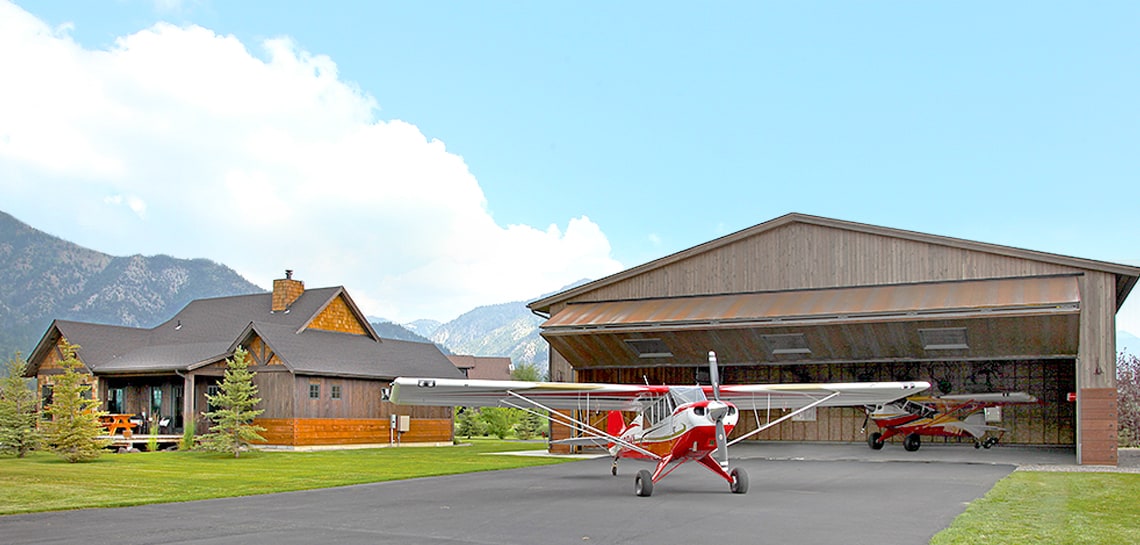
[[[1080, 272], [1042, 261], [811, 223], [789, 223], [573, 301]], [[1114, 285], [1115, 293], [1115, 285]], [[551, 309], [554, 311], [554, 309]]]

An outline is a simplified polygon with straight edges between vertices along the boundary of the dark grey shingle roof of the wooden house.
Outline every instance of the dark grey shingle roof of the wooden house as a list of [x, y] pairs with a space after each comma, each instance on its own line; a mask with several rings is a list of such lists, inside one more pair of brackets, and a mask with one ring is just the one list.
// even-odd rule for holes
[[[42, 361], [59, 336], [79, 344], [80, 359], [96, 374], [173, 373], [229, 357], [250, 337], [260, 335], [298, 374], [392, 379], [399, 375], [461, 377], [440, 350], [430, 343], [307, 330], [306, 326], [343, 287], [307, 290], [287, 310], [272, 312], [272, 294], [258, 293], [192, 301], [153, 328], [56, 320], [28, 361]], [[367, 324], [361, 317], [361, 322]], [[28, 374], [34, 375], [30, 368]]]

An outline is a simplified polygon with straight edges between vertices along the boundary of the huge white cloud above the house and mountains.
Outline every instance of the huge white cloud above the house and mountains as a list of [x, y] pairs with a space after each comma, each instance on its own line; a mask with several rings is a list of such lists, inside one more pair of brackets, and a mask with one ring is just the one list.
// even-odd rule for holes
[[198, 26], [107, 50], [67, 32], [0, 0], [0, 194], [35, 227], [109, 253], [210, 258], [262, 286], [295, 269], [393, 319], [620, 269], [586, 217], [495, 223], [462, 157], [376, 121], [331, 58], [287, 39], [259, 58]]

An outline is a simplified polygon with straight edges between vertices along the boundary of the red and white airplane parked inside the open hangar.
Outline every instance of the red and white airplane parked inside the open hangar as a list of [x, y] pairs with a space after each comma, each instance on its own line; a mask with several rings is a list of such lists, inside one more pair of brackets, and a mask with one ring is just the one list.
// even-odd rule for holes
[[962, 393], [940, 397], [911, 397], [894, 401], [868, 405], [866, 418], [879, 430], [866, 437], [866, 444], [874, 450], [885, 441], [903, 436], [903, 448], [918, 450], [922, 446], [921, 436], [971, 437], [974, 448], [990, 448], [997, 445], [1005, 433], [1004, 428], [986, 423], [985, 410], [1012, 404], [1033, 404], [1037, 398], [1026, 392]]

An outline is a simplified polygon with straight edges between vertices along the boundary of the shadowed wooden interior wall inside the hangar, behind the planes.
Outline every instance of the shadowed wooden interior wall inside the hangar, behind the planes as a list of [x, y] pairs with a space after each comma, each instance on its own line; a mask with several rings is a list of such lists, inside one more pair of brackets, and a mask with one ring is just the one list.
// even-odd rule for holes
[[[692, 384], [700, 367], [609, 368], [583, 369], [578, 379], [584, 382], [617, 382], [651, 384]], [[928, 394], [967, 393], [971, 391], [1026, 391], [1040, 404], [1012, 405], [1002, 408], [1001, 426], [1009, 429], [1002, 441], [1011, 445], [1073, 445], [1075, 442], [1075, 407], [1065, 400], [1074, 391], [1075, 366], [1069, 360], [1019, 361], [936, 361], [830, 364], [783, 366], [722, 367], [726, 384], [790, 383], [790, 382], [873, 382], [922, 380], [935, 384]], [[782, 416], [773, 412], [772, 420]], [[760, 412], [742, 412], [732, 437], [740, 437], [767, 422]], [[597, 415], [592, 415], [597, 417]], [[754, 437], [772, 441], [863, 441], [861, 431], [864, 414], [856, 407], [826, 407], [816, 412], [815, 422], [784, 422]], [[602, 423], [604, 428], [604, 423]], [[873, 430], [873, 424], [870, 424]], [[554, 426], [555, 438], [569, 436], [564, 426]], [[899, 439], [901, 440], [901, 439]], [[928, 442], [972, 442], [970, 439], [922, 438]]]

